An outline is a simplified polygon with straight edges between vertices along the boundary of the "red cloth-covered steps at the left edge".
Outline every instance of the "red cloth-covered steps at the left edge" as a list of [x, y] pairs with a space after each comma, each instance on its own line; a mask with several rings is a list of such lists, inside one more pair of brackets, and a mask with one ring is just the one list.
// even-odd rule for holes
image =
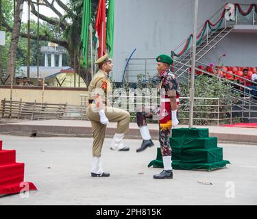
[[[24, 163], [16, 163], [15, 150], [3, 150], [0, 140], [0, 197], [6, 194], [37, 190], [30, 182], [24, 182]], [[24, 187], [25, 186], [25, 187]]]

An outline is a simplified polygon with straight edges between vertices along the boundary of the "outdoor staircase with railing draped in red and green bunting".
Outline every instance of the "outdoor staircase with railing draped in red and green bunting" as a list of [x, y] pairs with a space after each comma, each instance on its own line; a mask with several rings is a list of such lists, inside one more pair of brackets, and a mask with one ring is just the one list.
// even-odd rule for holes
[[[223, 40], [231, 31], [234, 29], [235, 25], [243, 24], [243, 25], [256, 25], [256, 17], [257, 10], [256, 5], [252, 7], [251, 5], [244, 5], [248, 8], [249, 14], [242, 16], [241, 20], [238, 18], [241, 13], [246, 13], [242, 10], [241, 6], [236, 4], [235, 6], [235, 18], [234, 20], [227, 21], [226, 19], [226, 10], [225, 5], [223, 5], [215, 14], [213, 14], [207, 21], [197, 30], [197, 47], [196, 47], [196, 57], [195, 62], [199, 62], [204, 55], [210, 52], [221, 40]], [[252, 7], [252, 10], [251, 10]], [[247, 12], [248, 12], [247, 10]], [[240, 13], [239, 13], [240, 12]], [[247, 16], [252, 16], [251, 19], [248, 19]], [[210, 22], [212, 20], [212, 23]], [[217, 27], [215, 27], [217, 26]], [[192, 35], [191, 35], [192, 36]], [[176, 47], [172, 53], [176, 54], [173, 57], [175, 58], [175, 64], [173, 66], [173, 72], [182, 82], [188, 83], [188, 78], [190, 74], [190, 66], [192, 60], [192, 49], [191, 47], [187, 47], [186, 43], [188, 43], [188, 39], [190, 36], [186, 38], [178, 47]], [[189, 40], [189, 42], [191, 42]], [[184, 48], [188, 48], [184, 51]], [[182, 55], [180, 54], [182, 53]], [[206, 65], [208, 66], [208, 65]]]

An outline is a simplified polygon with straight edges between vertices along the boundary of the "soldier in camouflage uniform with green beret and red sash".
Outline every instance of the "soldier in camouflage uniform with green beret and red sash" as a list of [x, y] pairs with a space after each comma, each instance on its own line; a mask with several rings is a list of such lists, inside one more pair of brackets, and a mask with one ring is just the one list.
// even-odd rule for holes
[[[173, 172], [171, 167], [171, 146], [169, 145], [169, 136], [171, 133], [173, 118], [171, 112], [171, 105], [176, 103], [176, 96], [179, 93], [179, 84], [173, 75], [169, 71], [170, 65], [173, 60], [169, 55], [159, 55], [156, 58], [157, 70], [160, 76], [160, 108], [150, 110], [150, 112], [145, 112], [145, 109], [139, 110], [136, 113], [136, 119], [138, 127], [140, 128], [140, 133], [143, 138], [143, 143], [137, 152], [144, 151], [148, 146], [153, 146], [154, 143], [151, 141], [151, 136], [149, 129], [147, 127], [146, 118], [152, 118], [153, 114], [158, 114], [159, 116], [159, 142], [160, 149], [162, 152], [162, 159], [164, 170], [158, 175], [154, 175], [154, 179], [172, 179]], [[176, 118], [175, 118], [176, 119]], [[178, 122], [176, 121], [176, 125]]]

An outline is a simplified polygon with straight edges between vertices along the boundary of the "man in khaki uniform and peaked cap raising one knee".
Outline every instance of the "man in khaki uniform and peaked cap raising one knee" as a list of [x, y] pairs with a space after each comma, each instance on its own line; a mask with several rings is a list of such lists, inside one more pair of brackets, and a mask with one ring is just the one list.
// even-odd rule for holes
[[95, 64], [99, 66], [99, 71], [88, 87], [88, 119], [92, 124], [94, 138], [91, 176], [109, 177], [110, 173], [103, 172], [100, 161], [106, 125], [109, 121], [117, 123], [117, 131], [112, 139], [110, 149], [129, 151], [130, 148], [123, 144], [123, 137], [125, 131], [129, 129], [130, 114], [125, 110], [110, 107], [108, 102], [107, 96], [111, 91], [109, 73], [113, 68], [112, 60], [108, 54], [100, 57]]

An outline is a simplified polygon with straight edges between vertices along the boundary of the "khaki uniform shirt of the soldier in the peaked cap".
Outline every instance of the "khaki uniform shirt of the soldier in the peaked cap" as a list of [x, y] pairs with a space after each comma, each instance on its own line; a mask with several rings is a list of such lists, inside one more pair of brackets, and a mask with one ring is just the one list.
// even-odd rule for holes
[[99, 94], [107, 103], [107, 96], [111, 89], [108, 73], [100, 69], [88, 86], [88, 100], [95, 100]]

